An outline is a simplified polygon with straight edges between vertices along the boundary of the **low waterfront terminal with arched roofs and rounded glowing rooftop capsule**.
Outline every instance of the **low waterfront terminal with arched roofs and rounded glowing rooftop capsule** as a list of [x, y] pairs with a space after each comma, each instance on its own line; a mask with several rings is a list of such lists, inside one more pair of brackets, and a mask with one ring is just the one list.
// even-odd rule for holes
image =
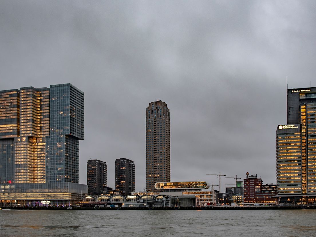
[[217, 204], [217, 192], [205, 181], [157, 182], [155, 191], [131, 195], [91, 195], [82, 197], [81, 205], [115, 205], [122, 207], [199, 207]]

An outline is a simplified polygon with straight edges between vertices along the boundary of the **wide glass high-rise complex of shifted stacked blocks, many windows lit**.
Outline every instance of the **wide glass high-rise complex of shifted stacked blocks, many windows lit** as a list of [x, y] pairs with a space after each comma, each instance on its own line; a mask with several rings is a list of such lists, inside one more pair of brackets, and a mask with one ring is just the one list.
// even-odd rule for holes
[[[70, 182], [72, 193], [79, 183], [79, 140], [83, 139], [84, 93], [73, 85], [0, 91], [0, 183], [9, 184], [1, 185], [2, 192], [21, 200], [13, 183], [16, 188], [24, 184], [20, 191], [34, 187], [39, 194], [53, 187], [47, 183]], [[86, 191], [86, 185], [77, 187], [80, 193]]]

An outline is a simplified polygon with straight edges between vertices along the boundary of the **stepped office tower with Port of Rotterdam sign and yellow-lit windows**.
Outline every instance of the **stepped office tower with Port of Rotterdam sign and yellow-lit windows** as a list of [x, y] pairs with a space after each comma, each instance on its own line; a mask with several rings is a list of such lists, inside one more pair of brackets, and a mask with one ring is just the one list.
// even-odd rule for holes
[[316, 87], [288, 89], [287, 124], [276, 129], [279, 202], [315, 203]]

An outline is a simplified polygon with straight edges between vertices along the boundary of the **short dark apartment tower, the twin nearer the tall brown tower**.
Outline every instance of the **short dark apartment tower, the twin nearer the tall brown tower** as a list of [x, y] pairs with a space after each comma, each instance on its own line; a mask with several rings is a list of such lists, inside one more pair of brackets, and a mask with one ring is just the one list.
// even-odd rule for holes
[[135, 164], [126, 158], [115, 160], [115, 189], [123, 196], [135, 192]]

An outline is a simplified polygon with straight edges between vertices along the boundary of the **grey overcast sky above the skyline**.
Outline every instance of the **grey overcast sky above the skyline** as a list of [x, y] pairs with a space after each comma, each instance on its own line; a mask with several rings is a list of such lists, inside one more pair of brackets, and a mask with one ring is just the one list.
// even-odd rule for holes
[[170, 109], [171, 181], [249, 172], [276, 183], [286, 76], [289, 88], [316, 86], [315, 12], [315, 1], [289, 0], [0, 1], [0, 90], [85, 93], [80, 183], [91, 157], [106, 161], [114, 188], [125, 157], [143, 190], [155, 100]]

